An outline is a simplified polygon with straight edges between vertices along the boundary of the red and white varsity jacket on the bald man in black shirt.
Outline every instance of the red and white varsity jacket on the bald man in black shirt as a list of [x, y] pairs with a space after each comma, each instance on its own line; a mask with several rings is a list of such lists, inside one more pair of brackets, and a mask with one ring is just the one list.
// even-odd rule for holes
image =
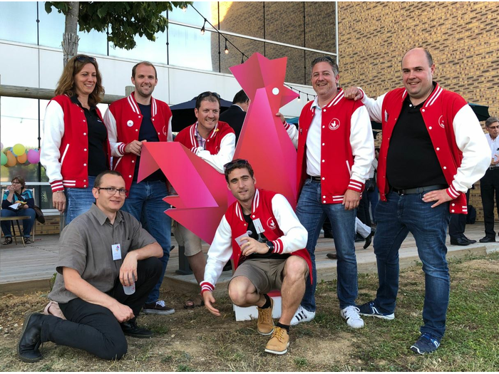
[[[386, 156], [390, 137], [407, 96], [405, 88], [397, 88], [368, 98], [362, 91], [362, 103], [369, 115], [383, 125], [379, 150], [378, 187], [381, 200], [386, 201], [389, 184], [386, 180]], [[468, 212], [465, 192], [485, 174], [490, 165], [490, 147], [475, 113], [457, 93], [444, 90], [438, 84], [421, 108], [426, 129], [449, 185], [447, 193], [453, 198], [451, 213]], [[424, 186], [415, 186], [424, 187]]]

